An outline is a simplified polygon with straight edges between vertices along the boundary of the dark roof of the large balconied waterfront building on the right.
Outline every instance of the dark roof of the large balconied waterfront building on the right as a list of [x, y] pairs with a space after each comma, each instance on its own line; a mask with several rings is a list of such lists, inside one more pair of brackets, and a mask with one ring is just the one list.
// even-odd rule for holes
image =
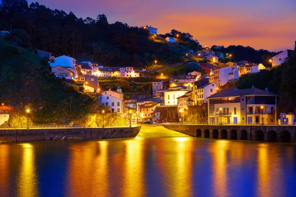
[[227, 88], [219, 91], [218, 93], [208, 97], [208, 99], [224, 98], [224, 97], [239, 97], [241, 94], [246, 96], [258, 95], [258, 96], [277, 96], [274, 93], [266, 92], [258, 88], [242, 89], [238, 90], [235, 88]]

